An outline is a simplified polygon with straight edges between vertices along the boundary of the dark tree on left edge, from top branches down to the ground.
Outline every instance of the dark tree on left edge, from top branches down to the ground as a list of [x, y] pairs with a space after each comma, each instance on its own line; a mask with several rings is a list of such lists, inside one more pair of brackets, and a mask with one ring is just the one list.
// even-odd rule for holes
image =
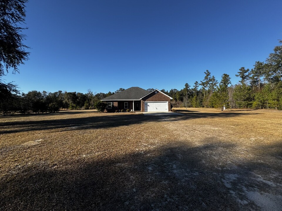
[[25, 3], [27, 0], [0, 0], [0, 112], [13, 110], [11, 104], [15, 103], [19, 94], [16, 84], [4, 83], [1, 79], [9, 69], [13, 73], [19, 72], [18, 66], [28, 59], [28, 48], [23, 44], [25, 35], [19, 24], [25, 20]]

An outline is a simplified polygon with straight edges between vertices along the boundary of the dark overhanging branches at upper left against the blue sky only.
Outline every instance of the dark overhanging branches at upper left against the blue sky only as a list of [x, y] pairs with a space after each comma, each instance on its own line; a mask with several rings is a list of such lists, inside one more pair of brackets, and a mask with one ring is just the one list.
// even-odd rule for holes
[[27, 0], [0, 0], [0, 76], [9, 68], [19, 72], [19, 64], [28, 59], [28, 48], [23, 44], [25, 35], [19, 24], [24, 23]]

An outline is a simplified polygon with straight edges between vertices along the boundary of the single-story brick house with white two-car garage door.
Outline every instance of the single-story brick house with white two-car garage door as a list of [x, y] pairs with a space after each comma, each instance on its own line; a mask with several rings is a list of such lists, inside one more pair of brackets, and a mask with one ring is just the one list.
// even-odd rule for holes
[[160, 90], [147, 91], [139, 87], [131, 87], [119, 93], [103, 98], [108, 103], [108, 111], [127, 110], [141, 112], [171, 111], [171, 97]]

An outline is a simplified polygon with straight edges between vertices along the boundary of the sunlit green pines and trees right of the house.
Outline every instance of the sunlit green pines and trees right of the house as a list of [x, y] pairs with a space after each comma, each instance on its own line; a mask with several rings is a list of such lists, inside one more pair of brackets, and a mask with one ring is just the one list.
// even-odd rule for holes
[[251, 69], [241, 67], [235, 76], [240, 79], [238, 84], [231, 84], [226, 73], [218, 82], [206, 70], [203, 80], [195, 81], [193, 87], [185, 84], [180, 91], [162, 91], [174, 99], [173, 106], [177, 107], [282, 110], [282, 40], [265, 62], [256, 61]]

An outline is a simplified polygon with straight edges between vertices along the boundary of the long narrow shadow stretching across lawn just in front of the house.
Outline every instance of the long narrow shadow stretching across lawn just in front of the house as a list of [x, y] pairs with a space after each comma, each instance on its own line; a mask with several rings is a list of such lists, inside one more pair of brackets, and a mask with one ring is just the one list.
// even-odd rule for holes
[[[53, 115], [68, 115], [68, 112], [55, 113]], [[71, 114], [76, 112], [69, 112]], [[81, 113], [81, 112], [78, 112]], [[84, 114], [85, 112], [83, 112]], [[196, 118], [230, 118], [243, 115], [254, 115], [255, 113], [185, 113], [183, 115], [143, 115], [143, 114], [121, 114], [121, 115], [103, 115], [103, 116], [91, 116], [83, 118], [68, 118], [59, 120], [38, 120], [38, 121], [13, 121], [13, 122], [0, 122], [0, 129], [6, 129], [0, 131], [1, 133], [15, 133], [23, 131], [36, 131], [36, 130], [84, 130], [84, 129], [99, 129], [99, 128], [111, 128], [125, 125], [140, 124], [144, 122], [158, 122], [158, 121], [180, 121]], [[48, 114], [51, 115], [51, 114]]]

